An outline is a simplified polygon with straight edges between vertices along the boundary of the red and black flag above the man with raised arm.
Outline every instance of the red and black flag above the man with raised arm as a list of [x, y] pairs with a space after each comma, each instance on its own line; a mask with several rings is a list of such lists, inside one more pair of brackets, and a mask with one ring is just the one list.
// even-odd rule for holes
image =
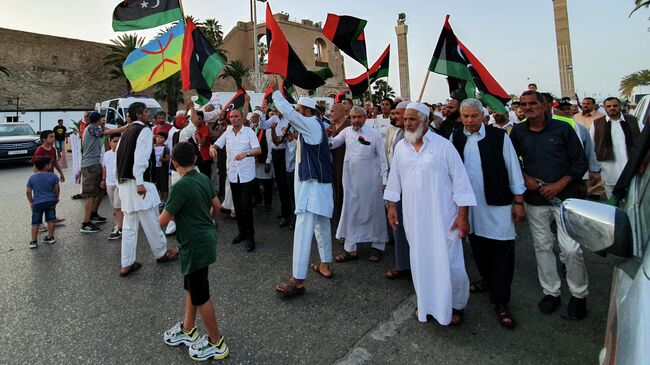
[[285, 80], [306, 90], [324, 85], [325, 80], [333, 76], [332, 70], [329, 68], [322, 68], [318, 71], [307, 70], [273, 18], [268, 3], [266, 4], [266, 40], [269, 59], [264, 73], [280, 75]]

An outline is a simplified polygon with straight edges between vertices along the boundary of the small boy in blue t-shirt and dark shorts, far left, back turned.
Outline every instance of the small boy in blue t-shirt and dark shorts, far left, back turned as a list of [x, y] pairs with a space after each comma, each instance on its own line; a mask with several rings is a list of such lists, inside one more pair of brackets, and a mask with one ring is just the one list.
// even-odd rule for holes
[[47, 222], [45, 243], [54, 244], [54, 224], [56, 223], [56, 204], [59, 202], [59, 178], [52, 172], [52, 158], [38, 157], [34, 161], [37, 172], [27, 180], [26, 195], [32, 208], [32, 240], [29, 248], [38, 247], [38, 227], [43, 223], [43, 214]]

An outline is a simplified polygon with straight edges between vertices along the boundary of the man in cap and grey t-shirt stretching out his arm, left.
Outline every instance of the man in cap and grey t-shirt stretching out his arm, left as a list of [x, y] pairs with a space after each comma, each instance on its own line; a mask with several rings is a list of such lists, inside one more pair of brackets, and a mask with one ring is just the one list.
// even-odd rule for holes
[[97, 214], [104, 196], [104, 191], [100, 187], [102, 182], [102, 139], [111, 133], [121, 133], [126, 128], [102, 128], [102, 119], [102, 115], [98, 112], [89, 113], [88, 125], [84, 128], [81, 140], [81, 194], [86, 199], [81, 233], [99, 232], [100, 228], [96, 223], [106, 222], [106, 218]]

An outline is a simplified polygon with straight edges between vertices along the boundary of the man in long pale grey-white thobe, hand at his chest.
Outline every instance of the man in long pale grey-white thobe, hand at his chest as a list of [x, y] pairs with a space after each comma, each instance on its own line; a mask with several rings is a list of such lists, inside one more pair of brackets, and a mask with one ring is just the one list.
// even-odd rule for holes
[[357, 243], [371, 242], [370, 261], [377, 262], [386, 249], [388, 232], [383, 215], [382, 191], [388, 179], [388, 164], [381, 132], [365, 125], [366, 111], [353, 106], [352, 126], [330, 139], [330, 148], [345, 143], [343, 160], [343, 209], [336, 238], [345, 239], [344, 252], [336, 262], [358, 259]]

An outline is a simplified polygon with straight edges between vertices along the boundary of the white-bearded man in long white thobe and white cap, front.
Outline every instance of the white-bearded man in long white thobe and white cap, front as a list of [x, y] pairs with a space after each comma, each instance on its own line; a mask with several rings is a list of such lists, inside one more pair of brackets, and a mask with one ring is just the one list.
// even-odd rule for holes
[[429, 112], [420, 103], [406, 107], [404, 139], [395, 146], [384, 199], [388, 222], [393, 229], [404, 225], [410, 245], [418, 319], [432, 315], [442, 325], [459, 325], [469, 299], [461, 239], [476, 199], [454, 146], [429, 129]]

